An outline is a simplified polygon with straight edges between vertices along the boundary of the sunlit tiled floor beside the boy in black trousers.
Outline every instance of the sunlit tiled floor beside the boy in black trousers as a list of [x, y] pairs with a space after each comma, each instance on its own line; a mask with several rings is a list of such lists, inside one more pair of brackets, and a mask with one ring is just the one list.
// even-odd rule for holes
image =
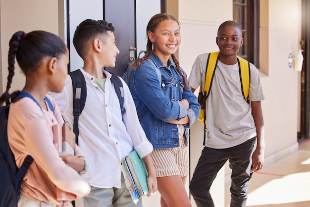
[[[225, 207], [229, 207], [229, 187], [225, 188]], [[247, 207], [310, 207], [310, 141], [254, 174]]]

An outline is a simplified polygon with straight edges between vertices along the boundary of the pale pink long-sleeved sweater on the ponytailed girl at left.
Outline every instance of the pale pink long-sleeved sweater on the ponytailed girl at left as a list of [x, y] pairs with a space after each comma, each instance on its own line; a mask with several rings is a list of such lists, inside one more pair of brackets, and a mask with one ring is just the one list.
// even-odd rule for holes
[[[76, 199], [88, 195], [90, 188], [78, 172], [66, 165], [58, 155], [53, 144], [52, 125], [62, 125], [63, 119], [55, 101], [50, 96], [48, 98], [54, 106], [54, 114], [50, 109], [43, 109], [43, 114], [30, 98], [10, 105], [8, 141], [18, 167], [27, 155], [34, 158], [21, 185], [21, 194], [57, 206], [70, 206], [68, 201], [57, 201], [56, 187], [74, 194]], [[84, 156], [78, 146], [75, 155]]]

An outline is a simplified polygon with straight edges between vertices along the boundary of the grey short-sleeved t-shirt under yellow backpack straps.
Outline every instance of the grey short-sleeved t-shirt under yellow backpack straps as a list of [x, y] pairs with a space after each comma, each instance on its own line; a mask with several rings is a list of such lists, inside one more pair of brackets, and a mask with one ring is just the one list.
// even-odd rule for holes
[[[205, 85], [208, 53], [200, 54], [188, 78], [190, 86], [197, 89]], [[250, 63], [249, 100], [265, 99], [258, 69]], [[240, 145], [255, 137], [256, 126], [251, 105], [242, 95], [238, 63], [226, 65], [217, 62], [211, 91], [206, 102], [207, 129], [206, 147], [225, 149]]]

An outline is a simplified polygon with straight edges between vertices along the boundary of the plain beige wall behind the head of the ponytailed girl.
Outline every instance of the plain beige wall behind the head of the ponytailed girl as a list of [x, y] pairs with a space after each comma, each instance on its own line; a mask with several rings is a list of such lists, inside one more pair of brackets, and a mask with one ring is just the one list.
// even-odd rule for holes
[[[17, 31], [46, 30], [58, 35], [58, 2], [56, 0], [1, 0], [1, 91], [5, 90], [7, 77], [8, 42]], [[22, 89], [25, 83], [17, 62], [10, 92]]]

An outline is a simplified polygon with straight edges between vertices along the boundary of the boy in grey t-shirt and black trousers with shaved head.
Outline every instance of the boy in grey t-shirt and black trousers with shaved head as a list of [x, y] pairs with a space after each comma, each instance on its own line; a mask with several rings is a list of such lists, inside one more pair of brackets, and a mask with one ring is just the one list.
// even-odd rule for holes
[[[198, 161], [190, 192], [197, 207], [214, 207], [209, 193], [217, 172], [227, 160], [232, 169], [231, 207], [245, 207], [253, 172], [264, 162], [264, 125], [260, 101], [265, 99], [258, 69], [250, 63], [248, 104], [243, 98], [237, 52], [243, 45], [242, 30], [234, 21], [223, 22], [217, 32], [218, 62], [206, 100], [209, 136]], [[205, 85], [208, 53], [198, 55], [189, 83], [192, 92]]]

